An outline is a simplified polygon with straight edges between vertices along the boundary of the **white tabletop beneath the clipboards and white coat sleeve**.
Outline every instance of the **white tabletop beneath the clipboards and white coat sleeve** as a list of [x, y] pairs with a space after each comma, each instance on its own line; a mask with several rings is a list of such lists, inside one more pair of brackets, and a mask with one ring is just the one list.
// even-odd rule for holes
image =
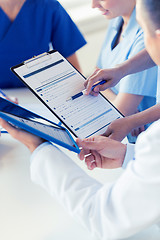
[[[20, 104], [45, 107], [27, 89], [7, 90], [17, 96]], [[44, 110], [44, 111], [43, 111]], [[49, 115], [48, 115], [49, 116]], [[52, 114], [51, 114], [52, 118]], [[53, 118], [54, 119], [54, 118]], [[89, 171], [76, 154], [65, 151], [91, 176], [99, 181], [114, 181], [122, 170]], [[29, 175], [28, 149], [8, 134], [0, 138], [0, 239], [1, 240], [91, 240], [87, 230], [75, 222]], [[152, 227], [130, 240], [159, 240], [160, 233]]]

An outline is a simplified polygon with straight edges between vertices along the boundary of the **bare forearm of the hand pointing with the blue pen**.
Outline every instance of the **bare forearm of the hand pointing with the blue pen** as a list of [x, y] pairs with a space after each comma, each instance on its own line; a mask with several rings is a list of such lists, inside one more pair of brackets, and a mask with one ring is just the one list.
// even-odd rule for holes
[[146, 49], [144, 49], [117, 67], [119, 68], [120, 72], [122, 72], [122, 75], [124, 77], [129, 74], [141, 72], [154, 66], [155, 63], [150, 58]]

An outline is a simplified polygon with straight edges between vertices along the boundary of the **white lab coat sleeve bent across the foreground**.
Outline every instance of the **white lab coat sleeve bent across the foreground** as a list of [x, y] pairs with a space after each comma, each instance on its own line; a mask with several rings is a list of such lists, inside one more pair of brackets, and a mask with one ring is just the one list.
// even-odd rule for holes
[[[158, 130], [159, 131], [158, 131]], [[142, 133], [135, 161], [115, 183], [100, 184], [52, 145], [32, 156], [31, 178], [101, 240], [129, 237], [160, 219], [160, 122]]]

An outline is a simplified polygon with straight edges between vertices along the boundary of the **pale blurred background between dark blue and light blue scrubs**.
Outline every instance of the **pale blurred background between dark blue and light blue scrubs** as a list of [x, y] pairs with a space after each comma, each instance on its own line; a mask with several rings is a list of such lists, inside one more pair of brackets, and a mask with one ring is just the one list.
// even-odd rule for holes
[[89, 76], [95, 66], [105, 37], [108, 21], [91, 0], [59, 0], [84, 35], [87, 44], [78, 51], [83, 74]]

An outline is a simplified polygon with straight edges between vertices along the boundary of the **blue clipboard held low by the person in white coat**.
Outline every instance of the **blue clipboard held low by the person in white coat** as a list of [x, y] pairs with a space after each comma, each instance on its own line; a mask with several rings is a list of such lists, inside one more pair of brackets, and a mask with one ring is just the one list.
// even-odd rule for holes
[[66, 128], [1, 97], [0, 117], [12, 125], [47, 141], [58, 144], [75, 153], [80, 152], [78, 145]]

